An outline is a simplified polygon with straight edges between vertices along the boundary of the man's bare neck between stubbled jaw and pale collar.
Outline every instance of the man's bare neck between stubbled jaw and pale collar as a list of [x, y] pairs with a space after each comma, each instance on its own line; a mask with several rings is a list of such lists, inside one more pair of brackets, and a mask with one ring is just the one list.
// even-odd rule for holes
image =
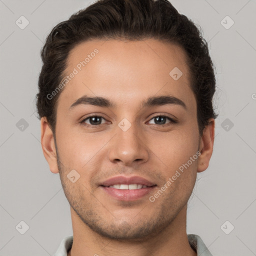
[[[112, 240], [91, 230], [70, 207], [73, 244], [67, 256], [196, 256], [186, 234], [186, 205], [169, 225], [143, 240]], [[120, 254], [121, 252], [121, 254]]]

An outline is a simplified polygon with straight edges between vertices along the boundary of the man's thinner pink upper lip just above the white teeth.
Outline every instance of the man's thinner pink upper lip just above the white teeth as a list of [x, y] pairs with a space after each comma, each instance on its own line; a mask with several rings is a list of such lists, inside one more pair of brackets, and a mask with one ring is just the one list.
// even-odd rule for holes
[[139, 176], [115, 176], [108, 178], [104, 182], [101, 183], [103, 186], [110, 186], [115, 184], [142, 184], [146, 186], [153, 186], [154, 183], [150, 182], [149, 180], [139, 177]]

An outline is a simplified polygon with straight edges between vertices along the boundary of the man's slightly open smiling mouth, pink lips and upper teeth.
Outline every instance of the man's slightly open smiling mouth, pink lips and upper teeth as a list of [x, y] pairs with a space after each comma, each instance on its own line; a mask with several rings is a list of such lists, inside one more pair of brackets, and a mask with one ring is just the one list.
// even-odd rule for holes
[[100, 184], [100, 187], [102, 187], [107, 195], [123, 201], [133, 201], [142, 198], [149, 192], [152, 192], [156, 186], [151, 181], [139, 176], [116, 176]]

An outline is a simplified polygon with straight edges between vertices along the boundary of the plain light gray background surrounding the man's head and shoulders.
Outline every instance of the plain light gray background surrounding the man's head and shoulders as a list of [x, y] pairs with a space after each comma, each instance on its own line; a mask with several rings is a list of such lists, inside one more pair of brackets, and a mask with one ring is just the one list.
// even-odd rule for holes
[[[256, 255], [256, 2], [171, 2], [202, 27], [217, 72], [214, 103], [219, 116], [213, 155], [208, 169], [198, 174], [187, 233], [200, 235], [214, 256]], [[50, 172], [42, 154], [34, 104], [46, 35], [88, 4], [0, 0], [1, 256], [52, 255], [61, 239], [72, 234], [59, 174]], [[21, 15], [29, 21], [24, 29], [15, 24]], [[223, 26], [231, 24], [223, 19], [226, 15], [234, 21], [228, 29]], [[27, 122], [23, 127], [22, 118]], [[22, 222], [22, 228], [15, 228], [21, 220], [29, 226], [24, 234]], [[230, 223], [222, 225], [226, 220]], [[231, 225], [234, 229], [224, 233]]]

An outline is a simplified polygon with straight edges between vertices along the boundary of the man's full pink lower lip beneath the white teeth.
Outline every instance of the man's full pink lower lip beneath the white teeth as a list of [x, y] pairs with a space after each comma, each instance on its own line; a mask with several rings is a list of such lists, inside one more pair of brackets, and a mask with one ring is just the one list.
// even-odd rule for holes
[[151, 192], [155, 188], [155, 185], [138, 189], [117, 189], [108, 186], [101, 187], [107, 194], [115, 197], [116, 199], [123, 201], [134, 201]]

